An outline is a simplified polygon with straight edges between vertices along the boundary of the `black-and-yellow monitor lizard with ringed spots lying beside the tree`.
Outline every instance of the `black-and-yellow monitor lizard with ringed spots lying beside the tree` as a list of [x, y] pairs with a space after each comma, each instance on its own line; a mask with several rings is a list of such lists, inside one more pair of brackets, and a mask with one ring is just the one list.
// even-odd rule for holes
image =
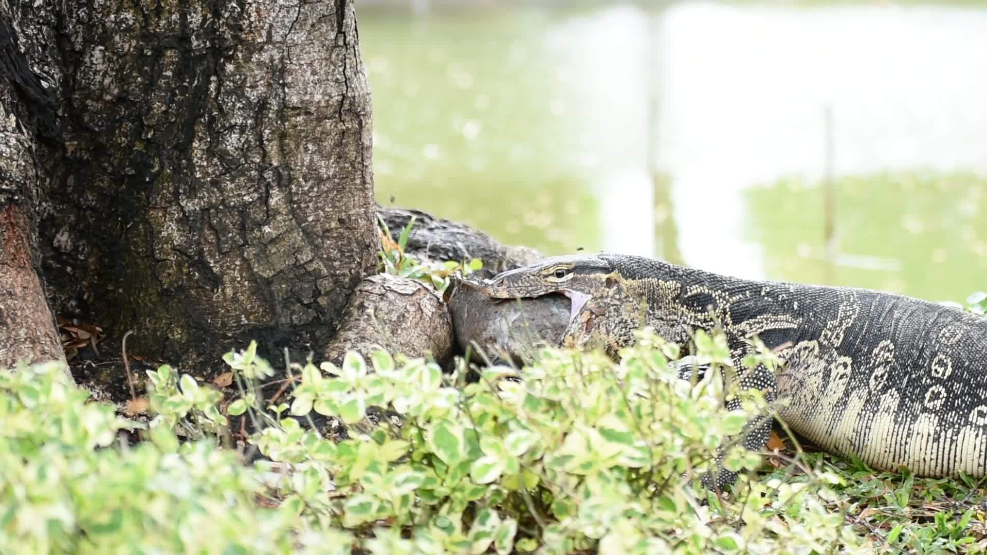
[[[777, 376], [750, 372], [741, 386], [774, 393], [799, 435], [879, 469], [987, 475], [987, 319], [869, 289], [730, 278], [609, 254], [549, 258], [481, 289], [495, 298], [566, 293], [568, 345], [600, 342], [611, 356], [642, 325], [683, 345], [719, 322], [736, 362], [758, 336], [785, 364]], [[762, 449], [766, 440], [762, 427], [745, 445]]]

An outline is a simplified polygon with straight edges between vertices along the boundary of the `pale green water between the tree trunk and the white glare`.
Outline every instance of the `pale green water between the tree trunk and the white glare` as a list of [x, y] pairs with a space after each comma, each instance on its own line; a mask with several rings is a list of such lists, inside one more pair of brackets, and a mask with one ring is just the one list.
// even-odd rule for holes
[[377, 198], [546, 253], [598, 248], [598, 160], [573, 124], [541, 9], [361, 12]]

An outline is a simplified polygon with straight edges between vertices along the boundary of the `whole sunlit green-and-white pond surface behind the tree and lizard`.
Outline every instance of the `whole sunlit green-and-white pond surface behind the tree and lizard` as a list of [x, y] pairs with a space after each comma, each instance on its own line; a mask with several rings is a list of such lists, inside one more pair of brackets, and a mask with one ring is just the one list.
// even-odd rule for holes
[[549, 254], [936, 299], [987, 287], [987, 10], [601, 3], [359, 24], [383, 202]]

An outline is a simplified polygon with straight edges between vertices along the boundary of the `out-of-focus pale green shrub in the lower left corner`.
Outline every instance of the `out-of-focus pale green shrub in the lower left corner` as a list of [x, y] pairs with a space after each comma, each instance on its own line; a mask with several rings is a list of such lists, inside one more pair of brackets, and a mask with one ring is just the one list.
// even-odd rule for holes
[[57, 364], [0, 371], [0, 553], [349, 553], [345, 531], [260, 509], [257, 471], [212, 440], [140, 428]]

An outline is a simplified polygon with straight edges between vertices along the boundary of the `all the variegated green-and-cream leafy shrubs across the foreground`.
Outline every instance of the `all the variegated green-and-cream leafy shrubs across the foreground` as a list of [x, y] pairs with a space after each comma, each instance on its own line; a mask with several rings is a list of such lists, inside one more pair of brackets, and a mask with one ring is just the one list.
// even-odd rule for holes
[[[696, 344], [728, 362], [721, 336]], [[521, 380], [492, 367], [467, 383], [465, 368], [349, 354], [340, 367], [292, 365], [290, 406], [265, 407], [251, 384], [273, 370], [252, 345], [225, 357], [244, 392], [229, 414], [249, 413], [250, 442], [271, 459], [252, 466], [218, 446], [218, 392], [171, 368], [149, 372], [159, 416], [132, 447], [114, 438], [135, 425], [85, 402], [53, 365], [0, 372], [0, 552], [870, 551], [835, 474], [742, 473], [721, 497], [699, 485], [763, 401], [725, 411], [720, 372], [681, 380], [668, 364], [678, 355], [645, 331], [620, 363], [545, 350]], [[401, 422], [370, 425], [368, 407]], [[302, 426], [312, 412], [349, 438]], [[726, 452], [727, 468], [760, 464]]]

